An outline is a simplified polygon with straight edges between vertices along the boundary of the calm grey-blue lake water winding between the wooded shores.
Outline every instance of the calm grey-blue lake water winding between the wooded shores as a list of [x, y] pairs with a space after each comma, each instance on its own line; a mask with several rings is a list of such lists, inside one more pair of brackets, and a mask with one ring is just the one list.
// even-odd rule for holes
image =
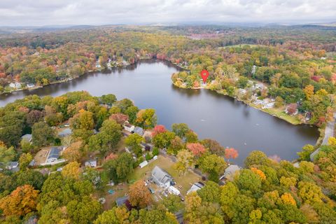
[[58, 96], [78, 90], [94, 96], [113, 93], [118, 99], [132, 99], [141, 109], [155, 109], [158, 123], [169, 129], [173, 123], [187, 123], [200, 139], [216, 139], [225, 147], [237, 148], [239, 158], [235, 162], [239, 165], [253, 150], [294, 160], [302, 146], [316, 143], [316, 127], [290, 125], [210, 90], [174, 87], [170, 77], [176, 71], [178, 68], [167, 62], [148, 60], [123, 69], [90, 73], [67, 83], [0, 95], [0, 106], [29, 94]]

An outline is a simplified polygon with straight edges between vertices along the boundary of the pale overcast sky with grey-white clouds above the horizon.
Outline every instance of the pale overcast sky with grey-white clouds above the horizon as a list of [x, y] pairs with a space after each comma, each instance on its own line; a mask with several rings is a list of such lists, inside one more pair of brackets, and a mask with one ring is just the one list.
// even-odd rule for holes
[[335, 21], [336, 0], [0, 0], [0, 26]]

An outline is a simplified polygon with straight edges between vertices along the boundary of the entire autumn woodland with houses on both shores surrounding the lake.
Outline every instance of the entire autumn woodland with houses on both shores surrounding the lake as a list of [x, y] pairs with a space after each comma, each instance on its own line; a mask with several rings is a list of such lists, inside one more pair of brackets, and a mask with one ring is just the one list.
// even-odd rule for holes
[[[177, 87], [272, 104], [268, 113], [323, 130], [335, 111], [335, 41], [335, 27], [319, 26], [0, 34], [0, 92], [155, 58], [183, 69], [172, 74]], [[0, 223], [336, 223], [335, 137], [297, 155], [293, 163], [253, 151], [238, 167], [235, 148], [185, 123], [160, 125], [155, 109], [131, 99], [30, 95], [0, 108]]]

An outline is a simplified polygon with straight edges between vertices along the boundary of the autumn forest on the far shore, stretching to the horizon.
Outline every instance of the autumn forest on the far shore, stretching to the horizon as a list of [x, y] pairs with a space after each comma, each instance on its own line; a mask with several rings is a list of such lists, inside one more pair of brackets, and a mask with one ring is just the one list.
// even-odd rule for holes
[[[91, 71], [157, 58], [185, 69], [178, 87], [206, 88], [251, 104], [272, 99], [273, 115], [321, 126], [332, 118], [336, 29], [318, 26], [106, 26], [0, 36], [0, 92], [43, 87]], [[255, 88], [262, 83], [265, 87]], [[253, 87], [254, 85], [254, 87]]]

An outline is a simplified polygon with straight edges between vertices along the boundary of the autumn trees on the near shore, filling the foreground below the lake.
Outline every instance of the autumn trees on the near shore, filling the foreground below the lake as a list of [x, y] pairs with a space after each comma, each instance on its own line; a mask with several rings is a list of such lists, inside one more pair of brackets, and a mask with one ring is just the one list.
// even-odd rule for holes
[[[183, 123], [167, 130], [158, 125], [155, 110], [138, 109], [113, 94], [32, 95], [6, 105], [0, 114], [1, 223], [179, 223], [181, 217], [184, 223], [336, 222], [333, 137], [328, 146], [321, 146], [314, 162], [310, 145], [298, 153], [298, 165], [253, 151], [244, 167], [223, 179], [230, 160], [238, 156], [234, 148], [198, 139]], [[126, 120], [151, 130], [151, 136], [125, 136]], [[59, 137], [58, 128], [65, 123], [72, 134]], [[30, 133], [31, 142], [21, 139]], [[141, 143], [152, 144], [153, 149], [141, 149]], [[31, 164], [41, 148], [61, 145], [65, 162]], [[172, 170], [177, 177], [188, 179], [200, 170], [204, 187], [155, 200], [142, 176], [131, 176], [144, 169], [139, 168], [144, 160], [160, 160], [162, 152], [176, 158]], [[97, 158], [99, 166], [84, 166], [88, 158]], [[15, 172], [6, 167], [13, 161], [18, 161]], [[106, 194], [111, 181], [127, 185], [128, 200], [122, 206], [113, 202], [105, 207], [97, 198]]]

